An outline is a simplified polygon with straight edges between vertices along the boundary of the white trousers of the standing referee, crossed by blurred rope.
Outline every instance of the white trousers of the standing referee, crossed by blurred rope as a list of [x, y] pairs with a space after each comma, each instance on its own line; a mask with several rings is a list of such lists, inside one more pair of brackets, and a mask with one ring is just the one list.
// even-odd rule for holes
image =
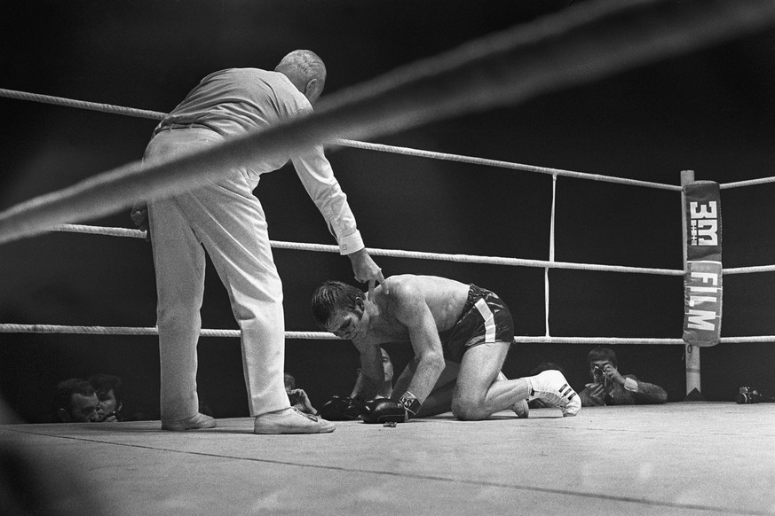
[[[157, 134], [144, 160], [178, 156], [222, 142], [207, 129]], [[202, 328], [205, 250], [226, 287], [241, 330], [242, 368], [251, 416], [289, 407], [283, 382], [285, 322], [256, 180], [235, 168], [216, 181], [148, 205], [154, 249], [162, 420], [194, 416], [196, 345]]]

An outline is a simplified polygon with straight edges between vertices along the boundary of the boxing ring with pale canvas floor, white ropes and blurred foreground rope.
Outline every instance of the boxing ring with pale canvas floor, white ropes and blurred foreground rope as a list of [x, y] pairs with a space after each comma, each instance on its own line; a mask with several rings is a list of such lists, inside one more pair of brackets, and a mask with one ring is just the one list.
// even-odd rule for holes
[[[641, 4], [649, 5], [647, 2]], [[609, 54], [605, 58], [607, 65], [601, 65], [600, 69], [605, 68], [606, 73], [612, 73], [617, 67], [608, 65], [621, 63], [616, 58], [629, 59], [628, 62], [635, 65], [647, 60], [644, 57], [646, 54], [649, 59], [655, 59], [675, 55], [677, 51], [688, 51], [712, 40], [708, 36], [710, 33], [724, 33], [724, 37], [731, 37], [763, 25], [763, 19], [775, 23], [775, 10], [765, 2], [754, 2], [746, 8], [739, 5], [735, 8], [722, 2], [697, 4], [699, 6], [690, 5], [688, 14], [684, 12], [672, 19], [662, 18], [663, 13], [657, 15], [664, 23], [664, 28], [656, 31], [660, 36], [668, 37], [676, 27], [694, 35], [693, 38], [682, 39], [684, 48], [676, 49], [676, 40], [669, 37], [664, 46], [654, 44], [662, 40], [654, 35], [653, 23], [645, 23], [645, 28], [641, 25], [645, 20], [653, 21], [651, 17], [654, 13], [646, 10], [645, 18], [636, 17], [637, 22], [629, 27], [631, 30], [622, 31], [630, 40], [640, 43], [640, 50], [625, 52], [623, 57]], [[708, 4], [712, 6], [708, 8]], [[581, 17], [582, 20], [577, 20], [579, 27], [586, 27], [585, 31], [595, 32], [605, 39], [605, 34], [599, 32], [595, 22], [607, 20], [607, 15], [616, 13], [615, 9], [609, 9], [603, 14], [598, 13], [599, 19]], [[619, 18], [616, 20], [623, 23]], [[605, 23], [610, 23], [610, 20]], [[573, 35], [573, 27], [569, 28], [565, 23], [559, 25], [562, 28], [560, 35]], [[735, 30], [723, 30], [724, 27], [734, 27]], [[546, 34], [544, 30], [539, 31], [541, 37], [549, 37]], [[557, 37], [557, 34], [551, 33], [549, 37], [552, 44], [557, 43], [552, 37]], [[518, 43], [517, 58], [524, 59], [526, 52], [541, 55], [541, 49], [536, 48], [534, 41], [530, 41], [527, 50], [521, 37]], [[492, 51], [489, 45], [486, 48]], [[597, 49], [597, 46], [594, 48]], [[648, 49], [645, 54], [641, 53], [645, 48]], [[589, 52], [589, 47], [583, 51]], [[474, 52], [476, 59], [471, 59], [471, 52], [465, 52], [463, 64], [455, 61], [453, 65], [468, 66], [475, 62], [484, 63], [486, 67], [495, 66], [485, 59], [485, 54]], [[498, 56], [495, 64], [500, 63], [500, 70], [505, 58], [500, 54]], [[571, 63], [576, 57], [571, 56], [567, 62]], [[515, 59], [514, 54], [510, 53], [509, 59]], [[516, 60], [519, 62], [519, 59]], [[535, 63], [531, 66], [540, 68]], [[562, 68], [561, 64], [559, 67]], [[447, 69], [444, 66], [440, 68], [443, 77]], [[416, 69], [410, 71], [416, 73]], [[438, 70], [434, 68], [433, 71]], [[569, 73], [568, 82], [578, 80], [578, 73], [578, 70]], [[402, 74], [395, 82], [399, 97], [407, 96], [407, 89], [410, 90], [407, 84], [411, 85], [411, 81], [407, 76], [412, 74]], [[502, 87], [503, 82], [510, 82], [513, 76], [488, 79], [493, 82], [486, 82], [482, 89], [492, 92]], [[385, 83], [387, 81], [369, 90], [376, 91], [375, 98], [379, 98]], [[526, 86], [524, 82], [520, 84]], [[542, 87], [541, 84], [526, 87], [529, 89], [531, 86]], [[435, 90], [432, 93], [438, 97]], [[470, 93], [471, 90], [465, 91], [466, 95]], [[455, 95], [452, 92], [451, 98], [454, 99]], [[515, 97], [521, 98], [520, 95], [510, 96], [510, 101]], [[159, 120], [164, 114], [15, 90], [0, 90], [0, 96], [150, 120]], [[683, 346], [686, 349], [687, 393], [699, 388], [700, 348], [683, 338], [558, 337], [552, 335], [550, 328], [551, 270], [679, 277], [686, 274], [685, 269], [556, 261], [554, 223], [558, 182], [573, 178], [676, 192], [676, 203], [681, 202], [679, 198], [684, 196], [685, 185], [542, 168], [343, 137], [370, 136], [368, 130], [362, 128], [377, 122], [359, 121], [360, 115], [353, 118], [347, 111], [362, 112], [363, 103], [373, 100], [367, 97], [352, 95], [351, 99], [355, 99], [352, 106], [348, 105], [346, 98], [337, 98], [320, 117], [312, 117], [312, 121], [306, 124], [266, 131], [270, 134], [262, 133], [261, 141], [268, 143], [271, 149], [272, 145], [279, 145], [273, 142], [290, 141], [292, 145], [301, 147], [312, 138], [326, 145], [542, 174], [551, 177], [552, 189], [547, 260], [372, 247], [368, 247], [369, 254], [541, 269], [544, 273], [545, 332], [542, 336], [517, 336], [515, 340], [518, 343]], [[418, 102], [423, 101], [424, 98], [421, 98]], [[406, 112], [400, 111], [396, 104], [388, 102], [383, 106], [375, 102], [378, 109], [371, 113], [372, 117], [384, 116], [405, 127], [442, 116], [445, 109], [452, 109], [444, 106], [455, 104], [451, 100], [441, 107], [439, 113], [431, 113], [431, 108], [428, 108], [417, 116], [407, 118], [402, 115]], [[439, 104], [434, 103], [433, 106], [439, 107]], [[339, 113], [337, 110], [347, 113], [344, 121], [336, 121], [334, 115]], [[330, 113], [334, 113], [331, 115], [334, 118], [329, 116], [327, 119]], [[353, 125], [357, 129], [344, 129]], [[257, 141], [256, 138], [245, 139], [234, 145], [225, 145], [223, 149], [206, 152], [206, 155], [197, 155], [196, 158], [202, 160], [199, 166], [194, 166], [193, 160], [181, 160], [153, 168], [151, 172], [158, 173], [162, 179], [151, 184], [150, 188], [154, 192], [170, 194], [192, 181], [190, 177], [186, 179], [186, 176], [180, 175], [180, 170], [195, 168], [195, 176], [203, 177], [208, 173], [202, 171], [205, 168], [223, 168], [229, 160], [249, 159], [249, 145]], [[131, 164], [72, 189], [32, 199], [0, 213], [0, 245], [47, 231], [145, 238], [146, 234], [142, 231], [69, 222], [70, 219], [89, 219], [123, 209], [126, 197], [119, 199], [119, 192], [130, 192], [133, 198], [142, 199], [148, 192], [143, 192], [138, 186], [142, 183], [139, 170], [138, 164]], [[682, 182], [691, 182], [691, 174], [684, 174]], [[775, 183], [775, 177], [720, 184], [719, 189], [724, 191], [769, 183]], [[89, 202], [94, 199], [97, 200]], [[88, 204], [94, 206], [87, 207]], [[275, 249], [338, 254], [338, 247], [333, 245], [274, 240], [271, 243]], [[684, 251], [684, 265], [685, 262]], [[775, 265], [725, 268], [723, 273], [726, 276], [772, 271], [775, 271]], [[155, 327], [12, 323], [0, 324], [0, 332], [157, 334]], [[239, 337], [239, 331], [203, 329], [202, 336], [235, 338]], [[337, 338], [327, 332], [289, 331], [286, 339]], [[772, 342], [775, 336], [725, 336], [718, 341]], [[775, 514], [775, 494], [771, 491], [771, 486], [775, 484], [775, 447], [772, 446], [775, 442], [775, 425], [772, 424], [775, 418], [771, 410], [768, 405], [728, 404], [724, 405], [724, 410], [718, 410], [718, 407], [717, 403], [668, 403], [654, 407], [619, 407], [616, 410], [596, 407], [582, 409], [576, 418], [558, 418], [554, 410], [543, 409], [534, 410], [529, 419], [515, 419], [510, 414], [499, 413], [488, 421], [476, 423], [456, 421], [446, 414], [417, 419], [395, 428], [344, 422], [333, 434], [312, 436], [258, 437], [251, 434], [248, 418], [219, 419], [215, 429], [186, 434], [162, 433], [158, 422], [140, 421], [111, 426], [0, 426], [0, 435], [18, 445], [4, 457], [14, 457], [18, 450], [29, 450], [29, 464], [35, 472], [30, 473], [29, 478], [39, 481], [39, 494], [42, 498], [51, 497], [54, 500], [51, 505], [61, 509], [62, 513], [551, 514], [565, 513], [572, 508], [573, 512], [580, 514]], [[84, 450], [97, 450], [99, 454], [115, 457], [115, 461], [94, 464], [79, 457]], [[101, 499], [91, 499], [90, 496], [77, 498], [75, 493], [99, 493]], [[0, 503], [2, 501], [0, 499]]]

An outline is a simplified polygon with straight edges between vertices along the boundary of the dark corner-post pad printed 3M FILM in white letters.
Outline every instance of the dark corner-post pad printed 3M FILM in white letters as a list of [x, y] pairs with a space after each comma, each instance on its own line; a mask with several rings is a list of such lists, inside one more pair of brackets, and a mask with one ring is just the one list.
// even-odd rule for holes
[[684, 342], [715, 346], [721, 337], [721, 196], [718, 184], [684, 185], [686, 270]]

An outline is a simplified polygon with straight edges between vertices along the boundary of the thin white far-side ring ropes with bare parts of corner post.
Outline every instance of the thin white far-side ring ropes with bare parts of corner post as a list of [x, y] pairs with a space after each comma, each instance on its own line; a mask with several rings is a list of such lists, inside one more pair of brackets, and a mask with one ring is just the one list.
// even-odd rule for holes
[[[71, 98], [58, 98], [47, 95], [40, 95], [25, 91], [5, 90], [0, 89], [0, 97], [15, 98], [20, 100], [27, 100], [32, 102], [39, 102], [44, 104], [51, 104], [57, 106], [67, 106], [78, 109], [87, 109], [92, 111], [98, 111], [101, 113], [115, 113], [124, 116], [145, 118], [155, 121], [161, 121], [166, 113], [159, 113], [148, 110], [135, 109], [126, 106], [111, 106], [106, 104], [98, 104], [93, 102], [87, 102], [82, 100], [75, 100]], [[556, 201], [557, 201], [557, 184], [558, 179], [562, 177], [571, 177], [575, 179], [581, 179], [590, 182], [603, 182], [611, 184], [626, 184], [630, 186], [636, 186], [646, 189], [663, 190], [668, 192], [676, 192], [676, 197], [683, 194], [683, 187], [673, 184], [660, 184], [648, 181], [640, 181], [636, 179], [629, 179], [615, 176], [604, 176], [599, 174], [589, 174], [585, 172], [564, 170], [558, 168], [544, 168], [533, 165], [526, 165], [521, 163], [514, 163], [502, 160], [489, 160], [485, 158], [478, 158], [473, 156], [464, 156], [459, 154], [447, 153], [447, 152], [431, 152], [419, 149], [400, 147], [395, 145], [382, 145], [375, 143], [360, 142], [355, 140], [341, 139], [336, 141], [336, 145], [350, 147], [355, 149], [362, 149], [371, 152], [391, 152], [395, 154], [413, 156], [416, 158], [423, 158], [428, 160], [446, 160], [469, 163], [481, 167], [493, 167], [503, 168], [515, 171], [521, 171], [533, 174], [549, 175], [552, 178], [551, 184], [551, 208], [550, 208], [550, 247], [549, 247], [549, 259], [548, 260], [527, 260], [514, 257], [503, 256], [483, 256], [473, 254], [441, 254], [441, 253], [428, 253], [428, 252], [416, 252], [409, 250], [396, 250], [396, 249], [381, 249], [368, 247], [369, 254], [374, 256], [384, 256], [391, 258], [411, 258], [415, 260], [431, 260], [441, 262], [458, 262], [458, 263], [479, 263], [486, 265], [500, 265], [507, 267], [532, 267], [540, 268], [544, 270], [544, 321], [545, 321], [545, 333], [542, 336], [527, 336], [517, 335], [515, 336], [515, 342], [524, 344], [581, 344], [581, 345], [616, 345], [616, 344], [645, 344], [645, 345], [683, 345], [686, 347], [686, 393], [689, 394], [693, 389], [700, 391], [700, 349], [698, 346], [692, 345], [691, 342], [686, 342], [682, 338], [621, 338], [611, 336], [598, 336], [598, 337], [558, 337], [552, 336], [550, 332], [550, 270], [586, 270], [586, 271], [600, 271], [600, 272], [618, 272], [625, 274], [652, 274], [660, 276], [681, 276], [685, 274], [685, 270], [673, 270], [673, 269], [660, 269], [660, 268], [648, 268], [648, 267], [632, 267], [632, 266], [619, 266], [619, 265], [604, 265], [596, 263], [576, 263], [576, 262], [558, 262], [555, 260], [555, 213], [556, 213]], [[687, 174], [688, 173], [688, 174]], [[693, 181], [693, 172], [684, 171], [682, 173], [682, 180], [686, 177], [686, 182]], [[775, 183], [775, 176], [763, 177], [759, 179], [739, 181], [734, 183], [719, 184], [720, 190], [730, 190], [734, 188], [751, 187], [760, 184]], [[680, 199], [676, 199], [676, 203], [680, 202]], [[59, 224], [51, 228], [51, 231], [62, 231], [72, 233], [83, 233], [97, 236], [111, 236], [117, 238], [146, 238], [145, 231], [132, 230], [127, 228], [117, 227], [100, 227], [85, 224]], [[684, 234], [684, 241], [686, 237]], [[286, 242], [272, 240], [271, 245], [275, 249], [289, 249], [293, 251], [308, 251], [316, 253], [333, 253], [338, 254], [339, 249], [334, 245], [322, 245], [311, 243], [298, 243], [298, 242]], [[677, 244], [676, 244], [677, 245]], [[685, 250], [684, 250], [685, 254]], [[685, 257], [684, 257], [685, 259]], [[775, 265], [764, 266], [751, 266], [751, 267], [736, 267], [736, 268], [724, 268], [723, 273], [726, 275], [733, 274], [755, 274], [761, 272], [775, 271]], [[60, 325], [60, 324], [12, 324], [3, 323], [0, 324], [0, 332], [29, 332], [29, 333], [75, 333], [75, 334], [91, 334], [91, 335], [157, 335], [158, 330], [155, 327], [131, 327], [131, 326], [84, 326], [84, 325]], [[202, 337], [216, 337], [216, 338], [239, 338], [239, 330], [225, 330], [225, 329], [202, 329]], [[338, 338], [328, 332], [300, 332], [289, 331], [286, 332], [286, 339], [293, 340], [337, 340]], [[751, 343], [751, 342], [772, 342], [775, 341], [775, 335], [759, 335], [759, 336], [738, 336], [738, 337], [720, 337], [717, 342], [720, 343]]]

